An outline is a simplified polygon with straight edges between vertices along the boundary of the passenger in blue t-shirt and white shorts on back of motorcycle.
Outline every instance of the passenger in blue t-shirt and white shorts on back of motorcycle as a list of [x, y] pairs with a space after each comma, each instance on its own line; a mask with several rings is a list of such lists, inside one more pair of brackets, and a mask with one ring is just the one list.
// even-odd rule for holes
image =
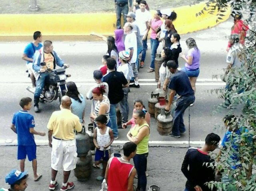
[[33, 62], [33, 57], [36, 52], [36, 50], [40, 50], [42, 48], [42, 34], [40, 31], [34, 32], [33, 35], [34, 41], [30, 42], [26, 47], [22, 55], [22, 59], [27, 61], [27, 68], [29, 72], [29, 76], [32, 82], [32, 87], [36, 87], [36, 79], [34, 77], [33, 69], [32, 69], [32, 62]]

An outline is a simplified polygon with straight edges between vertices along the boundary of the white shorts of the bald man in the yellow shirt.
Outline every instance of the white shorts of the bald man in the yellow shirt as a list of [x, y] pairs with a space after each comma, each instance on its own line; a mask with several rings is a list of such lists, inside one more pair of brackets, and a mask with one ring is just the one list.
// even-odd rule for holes
[[52, 138], [52, 169], [58, 171], [63, 167], [64, 171], [71, 171], [76, 168], [76, 139], [58, 140]]

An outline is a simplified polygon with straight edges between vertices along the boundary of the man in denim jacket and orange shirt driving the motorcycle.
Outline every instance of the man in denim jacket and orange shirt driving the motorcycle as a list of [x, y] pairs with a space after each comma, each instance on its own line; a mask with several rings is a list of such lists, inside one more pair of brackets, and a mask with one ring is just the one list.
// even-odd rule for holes
[[[41, 63], [45, 63], [44, 66]], [[66, 66], [69, 67], [68, 64], [64, 64], [64, 62], [60, 59], [58, 54], [53, 50], [52, 42], [50, 40], [44, 41], [44, 46], [40, 50], [36, 51], [33, 60], [33, 70], [35, 71], [36, 78], [36, 90], [34, 93], [34, 111], [39, 112], [38, 103], [40, 100], [40, 94], [44, 88], [44, 81], [46, 77], [49, 75], [46, 72], [47, 69], [54, 70], [56, 64], [60, 67]]]

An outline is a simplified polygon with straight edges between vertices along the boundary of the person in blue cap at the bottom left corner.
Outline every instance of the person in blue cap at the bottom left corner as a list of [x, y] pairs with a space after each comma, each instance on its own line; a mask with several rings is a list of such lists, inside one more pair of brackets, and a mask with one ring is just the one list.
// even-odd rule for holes
[[18, 170], [12, 170], [5, 177], [5, 182], [10, 185], [10, 189], [0, 189], [0, 191], [24, 191], [27, 187], [27, 175], [26, 172]]

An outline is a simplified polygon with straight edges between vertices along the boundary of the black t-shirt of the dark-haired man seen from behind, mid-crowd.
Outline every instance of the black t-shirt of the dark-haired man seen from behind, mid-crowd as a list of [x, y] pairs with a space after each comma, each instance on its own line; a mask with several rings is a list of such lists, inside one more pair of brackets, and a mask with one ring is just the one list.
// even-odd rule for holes
[[126, 85], [128, 82], [122, 72], [110, 72], [104, 76], [103, 82], [108, 84], [108, 99], [110, 104], [119, 103], [124, 97], [122, 85]]

